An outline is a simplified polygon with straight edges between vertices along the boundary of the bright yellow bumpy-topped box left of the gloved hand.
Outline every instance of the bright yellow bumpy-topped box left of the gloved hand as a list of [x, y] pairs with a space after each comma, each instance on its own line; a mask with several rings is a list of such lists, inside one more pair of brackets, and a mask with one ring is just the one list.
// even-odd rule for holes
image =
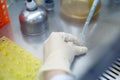
[[0, 80], [36, 80], [41, 61], [6, 37], [0, 38]]

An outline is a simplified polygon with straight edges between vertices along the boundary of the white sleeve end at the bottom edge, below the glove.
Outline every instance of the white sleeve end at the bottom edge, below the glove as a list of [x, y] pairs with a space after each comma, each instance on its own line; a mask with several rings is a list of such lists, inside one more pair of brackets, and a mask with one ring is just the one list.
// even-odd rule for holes
[[67, 74], [60, 74], [60, 75], [54, 76], [50, 80], [76, 80], [76, 79], [75, 79], [75, 77], [67, 75]]

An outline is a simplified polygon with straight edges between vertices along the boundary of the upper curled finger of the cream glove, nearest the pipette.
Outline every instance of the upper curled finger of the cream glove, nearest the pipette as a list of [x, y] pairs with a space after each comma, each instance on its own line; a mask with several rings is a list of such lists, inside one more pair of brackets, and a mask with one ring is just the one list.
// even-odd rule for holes
[[69, 33], [59, 32], [59, 35], [62, 36], [65, 42], [73, 42], [73, 44], [81, 45], [79, 39]]

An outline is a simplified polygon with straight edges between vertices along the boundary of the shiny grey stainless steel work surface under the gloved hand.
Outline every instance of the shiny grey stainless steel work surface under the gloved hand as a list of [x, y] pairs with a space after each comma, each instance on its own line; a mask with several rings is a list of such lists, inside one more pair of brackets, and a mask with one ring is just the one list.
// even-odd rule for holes
[[[105, 54], [104, 51], [109, 48], [119, 35], [120, 6], [110, 3], [110, 1], [102, 0], [98, 18], [89, 25], [87, 40], [89, 51], [84, 57], [77, 59], [73, 66], [73, 72], [79, 78]], [[51, 32], [64, 31], [80, 38], [83, 25], [66, 21], [60, 16], [59, 0], [55, 0], [54, 12], [48, 14], [48, 30], [46, 34], [37, 37], [23, 36], [20, 31], [19, 13], [25, 8], [24, 5], [24, 0], [15, 0], [14, 4], [9, 8], [11, 25], [15, 42], [36, 57], [43, 59], [43, 42]]]

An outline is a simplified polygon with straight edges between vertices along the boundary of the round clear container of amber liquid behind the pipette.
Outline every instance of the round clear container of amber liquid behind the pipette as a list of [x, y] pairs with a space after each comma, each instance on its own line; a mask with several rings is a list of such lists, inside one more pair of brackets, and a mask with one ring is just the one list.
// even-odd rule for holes
[[[94, 0], [61, 0], [60, 9], [64, 15], [70, 18], [86, 19], [93, 1]], [[98, 14], [100, 7], [101, 1], [99, 1], [93, 17]]]

